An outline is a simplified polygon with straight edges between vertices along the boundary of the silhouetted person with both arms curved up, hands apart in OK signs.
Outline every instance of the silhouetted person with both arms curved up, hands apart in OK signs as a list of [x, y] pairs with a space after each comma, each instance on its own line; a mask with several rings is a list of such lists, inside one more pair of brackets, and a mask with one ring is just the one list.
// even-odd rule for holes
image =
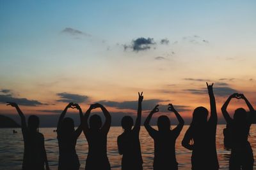
[[149, 125], [152, 115], [159, 111], [157, 108], [159, 105], [150, 112], [144, 123], [148, 134], [154, 139], [154, 170], [178, 169], [178, 162], [175, 156], [175, 142], [182, 130], [184, 120], [173, 108], [172, 104], [169, 105], [168, 110], [173, 111], [179, 120], [179, 125], [173, 130], [170, 129], [170, 119], [166, 116], [160, 116], [157, 119], [158, 131]]

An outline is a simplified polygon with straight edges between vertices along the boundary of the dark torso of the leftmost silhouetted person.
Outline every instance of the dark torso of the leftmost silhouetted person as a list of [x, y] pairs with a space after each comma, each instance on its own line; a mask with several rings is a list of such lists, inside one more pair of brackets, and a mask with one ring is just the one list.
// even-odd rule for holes
[[44, 169], [44, 135], [40, 132], [23, 132], [23, 170]]

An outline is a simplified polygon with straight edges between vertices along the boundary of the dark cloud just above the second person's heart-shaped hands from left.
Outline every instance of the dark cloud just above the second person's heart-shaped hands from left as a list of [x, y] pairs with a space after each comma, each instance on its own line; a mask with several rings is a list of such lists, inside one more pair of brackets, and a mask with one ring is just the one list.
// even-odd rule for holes
[[88, 101], [88, 96], [82, 96], [79, 94], [70, 94], [67, 92], [58, 93], [57, 96], [60, 96], [61, 99], [58, 99], [59, 102], [65, 102], [65, 103], [83, 103]]

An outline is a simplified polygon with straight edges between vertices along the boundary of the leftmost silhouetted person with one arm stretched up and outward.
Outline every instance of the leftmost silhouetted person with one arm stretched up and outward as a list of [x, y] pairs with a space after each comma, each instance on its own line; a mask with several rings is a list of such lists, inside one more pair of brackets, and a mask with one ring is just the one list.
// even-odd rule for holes
[[8, 102], [7, 105], [16, 108], [21, 118], [21, 130], [24, 140], [24, 154], [22, 170], [42, 170], [44, 166], [49, 169], [47, 155], [44, 146], [44, 135], [38, 132], [39, 118], [31, 115], [28, 118], [28, 126], [26, 118], [16, 103]]

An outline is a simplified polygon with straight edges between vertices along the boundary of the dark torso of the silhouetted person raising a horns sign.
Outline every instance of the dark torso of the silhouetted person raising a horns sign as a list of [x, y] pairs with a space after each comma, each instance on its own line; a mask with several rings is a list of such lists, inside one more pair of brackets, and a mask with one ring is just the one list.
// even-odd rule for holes
[[209, 120], [204, 125], [189, 127], [188, 133], [193, 139], [192, 169], [218, 169], [216, 123]]

